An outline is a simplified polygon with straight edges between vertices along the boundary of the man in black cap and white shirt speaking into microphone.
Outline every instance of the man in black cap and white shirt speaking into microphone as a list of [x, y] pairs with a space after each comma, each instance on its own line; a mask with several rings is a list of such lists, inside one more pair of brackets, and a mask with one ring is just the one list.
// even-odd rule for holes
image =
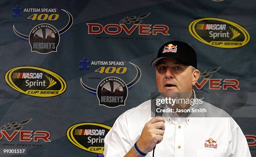
[[[189, 97], [196, 98], [192, 86], [199, 79], [200, 71], [196, 53], [187, 43], [165, 43], [151, 66], [156, 66], [160, 93], [187, 92]], [[118, 117], [105, 137], [105, 157], [152, 157], [155, 146], [155, 157], [251, 157], [243, 132], [225, 111], [206, 102], [168, 106], [179, 109], [200, 106], [225, 117], [199, 118], [174, 112], [176, 117], [164, 113], [166, 117], [152, 118], [151, 100], [148, 100]]]

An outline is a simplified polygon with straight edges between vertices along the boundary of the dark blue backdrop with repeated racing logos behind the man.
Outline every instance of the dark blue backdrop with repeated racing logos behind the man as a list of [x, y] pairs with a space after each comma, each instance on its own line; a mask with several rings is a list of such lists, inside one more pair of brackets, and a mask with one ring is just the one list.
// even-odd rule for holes
[[[167, 41], [195, 49], [195, 91], [255, 92], [255, 19], [254, 0], [1, 0], [0, 149], [102, 154], [115, 119], [157, 91]], [[256, 118], [234, 119], [256, 157]]]

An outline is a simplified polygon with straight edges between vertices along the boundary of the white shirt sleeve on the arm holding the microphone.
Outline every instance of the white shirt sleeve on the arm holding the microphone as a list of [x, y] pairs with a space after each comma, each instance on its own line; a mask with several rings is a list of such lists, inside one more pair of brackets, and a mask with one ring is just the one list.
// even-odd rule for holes
[[123, 157], [131, 149], [131, 144], [127, 131], [125, 116], [121, 115], [115, 121], [104, 139], [105, 157]]

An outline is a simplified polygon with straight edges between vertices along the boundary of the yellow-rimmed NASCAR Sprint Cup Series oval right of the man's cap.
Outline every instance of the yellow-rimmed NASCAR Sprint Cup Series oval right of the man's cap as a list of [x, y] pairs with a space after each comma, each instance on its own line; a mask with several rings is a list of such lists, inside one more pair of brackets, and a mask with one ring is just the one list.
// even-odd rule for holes
[[198, 41], [219, 48], [238, 48], [250, 41], [241, 25], [220, 18], [201, 18], [189, 25], [189, 32]]

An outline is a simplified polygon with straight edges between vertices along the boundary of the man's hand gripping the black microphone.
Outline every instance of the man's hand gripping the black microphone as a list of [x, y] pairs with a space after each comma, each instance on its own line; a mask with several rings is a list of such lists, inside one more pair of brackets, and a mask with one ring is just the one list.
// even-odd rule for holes
[[155, 145], [163, 140], [164, 123], [163, 117], [154, 117], [145, 124], [141, 137], [137, 141], [137, 146], [141, 152], [146, 154], [151, 152]]

